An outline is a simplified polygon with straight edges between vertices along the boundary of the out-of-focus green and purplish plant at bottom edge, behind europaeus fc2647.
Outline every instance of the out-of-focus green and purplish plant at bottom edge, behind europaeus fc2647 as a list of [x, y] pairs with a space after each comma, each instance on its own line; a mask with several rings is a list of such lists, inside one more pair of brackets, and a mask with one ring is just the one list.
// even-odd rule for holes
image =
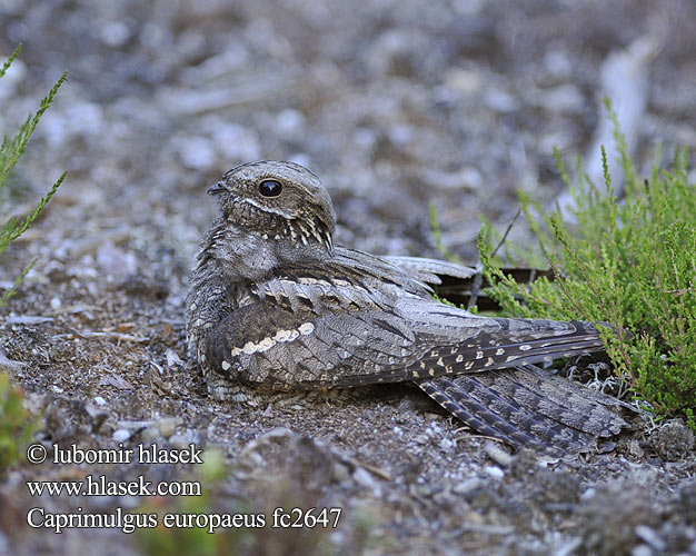
[[[381, 519], [369, 506], [348, 509], [341, 505], [336, 513], [334, 508], [326, 508], [318, 493], [301, 492], [306, 485], [297, 483], [294, 471], [281, 468], [246, 481], [249, 490], [242, 494], [239, 486], [230, 489], [235, 479], [230, 477], [231, 469], [222, 451], [206, 451], [202, 460], [201, 466], [187, 469], [188, 478], [200, 483], [201, 496], [153, 497], [140, 506], [138, 513], [158, 516], [157, 527], [136, 529], [143, 554], [339, 556], [382, 554], [390, 548], [389, 538], [374, 534]], [[302, 508], [301, 515], [299, 508]], [[193, 520], [167, 526], [166, 516], [172, 514], [192, 516]], [[197, 524], [197, 516], [202, 526]], [[220, 516], [222, 522], [211, 526], [207, 516]], [[231, 525], [230, 519], [233, 519]], [[341, 533], [338, 542], [334, 538], [337, 530]]]

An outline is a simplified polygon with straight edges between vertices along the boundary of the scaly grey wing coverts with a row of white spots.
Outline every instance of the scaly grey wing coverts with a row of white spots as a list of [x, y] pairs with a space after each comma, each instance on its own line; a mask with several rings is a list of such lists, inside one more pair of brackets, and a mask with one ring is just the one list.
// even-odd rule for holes
[[268, 299], [235, 310], [206, 344], [212, 368], [260, 389], [407, 380], [404, 364], [416, 360], [419, 350], [414, 334], [382, 309], [318, 315], [309, 305], [292, 309]]

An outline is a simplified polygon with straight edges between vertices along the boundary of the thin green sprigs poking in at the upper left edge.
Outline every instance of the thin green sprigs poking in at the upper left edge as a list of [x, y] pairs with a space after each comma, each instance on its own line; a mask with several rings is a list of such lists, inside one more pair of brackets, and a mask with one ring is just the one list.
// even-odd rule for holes
[[[0, 70], [0, 78], [4, 76], [7, 70], [12, 64], [12, 61], [19, 54], [21, 50], [21, 44], [17, 47], [14, 52], [10, 56], [7, 62], [2, 66]], [[33, 115], [29, 116], [24, 123], [20, 127], [18, 133], [10, 140], [7, 137], [2, 139], [2, 145], [0, 145], [0, 189], [2, 189], [8, 180], [8, 176], [10, 170], [17, 165], [21, 156], [27, 150], [27, 143], [31, 138], [31, 135], [37, 129], [39, 125], [39, 120], [43, 116], [43, 112], [48, 110], [48, 107], [53, 102], [56, 95], [58, 93], [58, 89], [66, 80], [67, 73], [63, 73], [60, 79], [56, 82], [50, 92], [41, 100], [41, 105], [39, 110]], [[9, 247], [9, 245], [24, 234], [33, 224], [33, 221], [39, 217], [48, 201], [53, 197], [60, 185], [66, 179], [66, 173], [63, 172], [58, 181], [53, 183], [48, 193], [46, 193], [37, 203], [34, 209], [23, 220], [20, 218], [13, 218], [8, 220], [2, 228], [0, 229], [0, 256], [4, 252], [4, 250]], [[7, 300], [14, 295], [17, 288], [23, 280], [27, 272], [31, 269], [33, 262], [30, 262], [17, 277], [12, 287], [4, 292], [2, 297], [0, 297], [0, 307], [3, 307], [7, 304]]]

